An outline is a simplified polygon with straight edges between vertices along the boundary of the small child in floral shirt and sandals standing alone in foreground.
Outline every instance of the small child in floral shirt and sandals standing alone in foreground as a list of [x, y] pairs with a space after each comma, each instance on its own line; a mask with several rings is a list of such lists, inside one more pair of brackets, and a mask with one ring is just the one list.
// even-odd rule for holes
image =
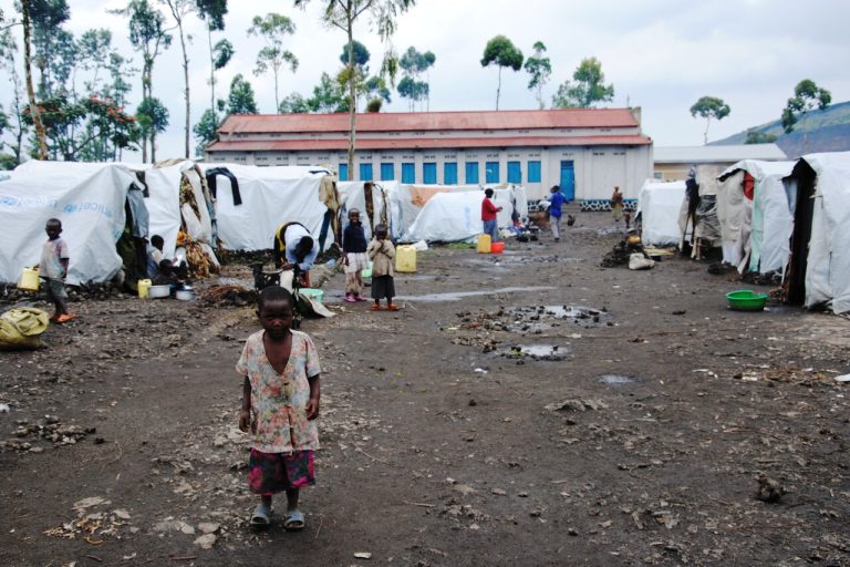
[[319, 449], [319, 357], [307, 333], [291, 329], [292, 295], [280, 286], [260, 292], [262, 326], [248, 338], [236, 371], [245, 377], [239, 429], [255, 435], [248, 485], [260, 495], [251, 526], [271, 524], [271, 498], [286, 492], [283, 527], [303, 529], [299, 491], [315, 484], [313, 452]]

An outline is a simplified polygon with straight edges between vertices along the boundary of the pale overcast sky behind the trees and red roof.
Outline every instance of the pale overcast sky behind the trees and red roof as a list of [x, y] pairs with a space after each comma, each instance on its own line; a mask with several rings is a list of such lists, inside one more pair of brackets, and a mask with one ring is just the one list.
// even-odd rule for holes
[[[300, 60], [293, 74], [284, 72], [281, 96], [291, 92], [310, 95], [322, 71], [335, 74], [345, 35], [320, 23], [324, 0], [297, 10], [287, 0], [229, 2], [224, 34], [236, 47], [236, 56], [218, 73], [217, 95], [225, 97], [230, 79], [243, 73], [252, 83], [260, 112], [274, 110], [270, 74], [251, 74], [262, 43], [246, 30], [255, 16], [278, 12], [293, 19], [297, 32], [287, 48]], [[75, 35], [91, 28], [107, 28], [122, 53], [131, 54], [127, 20], [106, 13], [124, 1], [69, 0]], [[0, 8], [17, 16], [12, 0]], [[190, 89], [195, 124], [209, 104], [206, 31], [190, 18]], [[656, 145], [699, 145], [705, 122], [691, 117], [688, 109], [703, 95], [722, 97], [732, 114], [713, 123], [709, 140], [718, 140], [749, 126], [776, 120], [794, 86], [811, 79], [832, 93], [833, 102], [850, 100], [850, 2], [846, 0], [418, 0], [400, 18], [393, 38], [396, 51], [410, 45], [432, 51], [431, 110], [495, 110], [497, 69], [481, 68], [487, 41], [507, 35], [526, 56], [536, 41], [548, 48], [552, 78], [543, 90], [551, 96], [558, 84], [571, 79], [579, 62], [597, 56], [605, 82], [615, 96], [608, 106], [641, 106], [643, 131]], [[355, 39], [372, 52], [372, 70], [380, 68], [384, 47], [364, 20]], [[141, 56], [133, 54], [138, 63]], [[502, 71], [502, 110], [535, 109], [524, 71]], [[133, 109], [139, 100], [138, 76]], [[156, 62], [154, 95], [170, 111], [168, 131], [158, 141], [158, 157], [179, 156], [183, 148], [183, 74], [177, 41]], [[4, 107], [9, 93], [0, 95]], [[385, 112], [405, 112], [407, 101], [393, 93]], [[193, 141], [193, 148], [195, 142]], [[136, 154], [138, 155], [138, 154]], [[131, 155], [125, 154], [131, 157]], [[132, 158], [132, 157], [131, 157]], [[136, 157], [137, 158], [137, 157]]]

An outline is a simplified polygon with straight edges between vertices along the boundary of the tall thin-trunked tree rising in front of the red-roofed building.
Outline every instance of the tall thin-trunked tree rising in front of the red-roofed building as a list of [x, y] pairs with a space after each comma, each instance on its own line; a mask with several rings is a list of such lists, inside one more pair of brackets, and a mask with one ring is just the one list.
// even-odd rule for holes
[[[310, 0], [293, 0], [296, 7], [305, 7]], [[354, 75], [354, 22], [363, 14], [372, 19], [379, 37], [386, 42], [395, 32], [395, 19], [407, 11], [416, 0], [323, 0], [325, 24], [345, 32], [349, 43], [349, 61], [345, 63], [349, 76]], [[395, 78], [396, 63], [391, 50], [384, 53], [382, 73], [391, 81]], [[356, 95], [354, 82], [349, 85], [349, 171], [354, 171], [354, 141], [356, 140]]]

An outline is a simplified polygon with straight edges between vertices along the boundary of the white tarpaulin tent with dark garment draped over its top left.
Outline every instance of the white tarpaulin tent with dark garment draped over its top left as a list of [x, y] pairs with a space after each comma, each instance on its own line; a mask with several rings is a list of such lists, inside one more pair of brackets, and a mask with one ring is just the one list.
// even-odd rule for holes
[[[205, 173], [227, 168], [239, 184], [241, 204], [224, 175], [216, 178], [216, 220], [218, 236], [229, 250], [272, 248], [274, 231], [289, 221], [304, 225], [318, 237], [328, 210], [319, 198], [323, 167], [257, 167], [238, 164], [199, 164]], [[332, 238], [332, 237], [331, 237]]]

